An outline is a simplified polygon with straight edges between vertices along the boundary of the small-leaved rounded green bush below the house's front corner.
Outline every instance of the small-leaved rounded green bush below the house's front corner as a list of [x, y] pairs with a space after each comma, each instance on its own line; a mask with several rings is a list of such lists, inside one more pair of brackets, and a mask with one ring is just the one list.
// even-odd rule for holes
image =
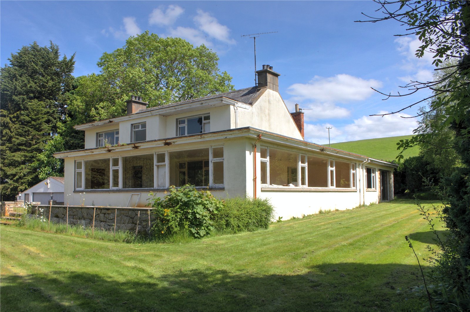
[[267, 199], [229, 198], [215, 216], [214, 226], [223, 232], [267, 229], [274, 218], [273, 205]]

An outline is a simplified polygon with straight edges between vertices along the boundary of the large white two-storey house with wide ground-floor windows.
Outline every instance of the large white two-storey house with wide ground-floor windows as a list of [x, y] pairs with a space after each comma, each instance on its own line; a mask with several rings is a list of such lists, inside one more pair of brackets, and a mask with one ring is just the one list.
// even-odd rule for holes
[[393, 198], [394, 164], [304, 141], [303, 112], [288, 111], [279, 74], [257, 74], [257, 87], [153, 108], [132, 97], [127, 115], [76, 126], [85, 149], [55, 154], [65, 203], [143, 207], [150, 191], [189, 183], [269, 198], [286, 219]]

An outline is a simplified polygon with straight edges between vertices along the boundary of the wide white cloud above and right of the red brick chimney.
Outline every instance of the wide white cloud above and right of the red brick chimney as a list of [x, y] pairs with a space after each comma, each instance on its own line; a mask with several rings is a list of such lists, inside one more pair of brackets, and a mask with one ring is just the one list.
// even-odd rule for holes
[[364, 80], [348, 74], [337, 74], [334, 77], [315, 76], [308, 83], [295, 83], [287, 92], [294, 97], [293, 100], [311, 99], [318, 102], [361, 101], [370, 97], [373, 88], [382, 87], [382, 82], [374, 79]]

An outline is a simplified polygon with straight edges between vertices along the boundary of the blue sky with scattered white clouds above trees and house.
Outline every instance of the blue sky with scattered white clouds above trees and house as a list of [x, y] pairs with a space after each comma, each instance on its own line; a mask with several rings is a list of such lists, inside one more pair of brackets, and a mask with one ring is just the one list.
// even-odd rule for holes
[[[328, 143], [412, 134], [416, 109], [385, 117], [427, 96], [383, 101], [403, 93], [410, 80], [429, 81], [431, 57], [414, 57], [415, 37], [394, 37], [398, 22], [357, 23], [380, 15], [372, 1], [6, 1], [0, 2], [0, 63], [37, 41], [76, 53], [74, 75], [99, 73], [103, 52], [145, 30], [205, 44], [236, 89], [254, 84], [253, 39], [241, 35], [277, 31], [256, 40], [257, 69], [273, 66], [290, 111], [305, 109], [305, 139]], [[280, 125], [282, 126], [282, 125]]]

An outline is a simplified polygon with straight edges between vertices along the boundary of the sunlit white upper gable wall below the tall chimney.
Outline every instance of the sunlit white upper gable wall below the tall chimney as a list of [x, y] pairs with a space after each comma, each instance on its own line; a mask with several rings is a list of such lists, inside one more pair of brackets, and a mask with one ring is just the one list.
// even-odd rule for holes
[[[232, 109], [231, 118], [235, 120]], [[232, 122], [232, 124], [234, 124]], [[251, 109], [238, 109], [238, 127], [252, 126], [269, 132], [303, 140], [279, 93], [266, 89]]]

